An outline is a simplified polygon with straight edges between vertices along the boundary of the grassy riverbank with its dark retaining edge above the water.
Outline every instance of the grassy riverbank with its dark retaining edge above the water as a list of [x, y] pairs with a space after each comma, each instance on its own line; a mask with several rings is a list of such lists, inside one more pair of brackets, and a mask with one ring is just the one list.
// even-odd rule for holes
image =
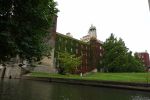
[[[121, 74], [128, 79], [121, 78]], [[38, 81], [47, 81], [47, 82], [57, 82], [57, 83], [66, 83], [66, 84], [78, 84], [78, 85], [87, 85], [87, 86], [100, 86], [100, 87], [110, 87], [110, 88], [122, 88], [122, 89], [132, 89], [132, 90], [140, 90], [140, 91], [150, 91], [150, 82], [148, 78], [149, 76], [142, 76], [146, 80], [142, 80], [139, 75], [149, 75], [145, 73], [94, 73], [88, 74], [84, 76], [79, 75], [59, 75], [59, 74], [47, 74], [47, 73], [31, 73], [29, 75], [23, 76], [23, 79], [29, 80], [38, 80]], [[99, 76], [101, 75], [101, 77]], [[111, 77], [110, 77], [111, 75]], [[117, 81], [117, 75], [120, 75]], [[139, 78], [138, 81], [135, 81], [136, 78], [131, 76], [128, 78], [127, 76], [133, 75]], [[97, 77], [96, 77], [97, 76]], [[105, 80], [103, 79], [104, 76]], [[95, 78], [94, 78], [95, 77]], [[103, 77], [103, 78], [102, 78]], [[113, 78], [115, 77], [115, 78]], [[119, 81], [119, 79], [121, 81]], [[124, 81], [123, 81], [124, 80]], [[129, 81], [130, 80], [130, 81]]]

